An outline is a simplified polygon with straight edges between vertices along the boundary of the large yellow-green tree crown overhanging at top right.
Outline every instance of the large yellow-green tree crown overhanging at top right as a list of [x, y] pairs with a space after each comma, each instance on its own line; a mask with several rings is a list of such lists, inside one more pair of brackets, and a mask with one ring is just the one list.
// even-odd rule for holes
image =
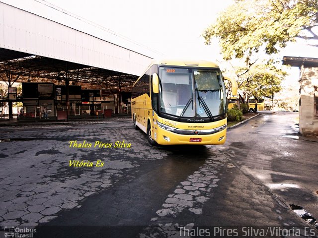
[[249, 57], [261, 47], [275, 54], [297, 37], [318, 40], [317, 26], [317, 0], [236, 0], [203, 37], [207, 45], [218, 37], [224, 59], [230, 60]]

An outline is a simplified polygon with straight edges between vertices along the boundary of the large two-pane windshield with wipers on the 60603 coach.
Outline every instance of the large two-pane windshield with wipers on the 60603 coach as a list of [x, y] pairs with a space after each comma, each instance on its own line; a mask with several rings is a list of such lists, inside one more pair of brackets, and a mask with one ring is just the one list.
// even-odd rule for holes
[[218, 70], [159, 68], [160, 112], [186, 118], [225, 113], [225, 88]]

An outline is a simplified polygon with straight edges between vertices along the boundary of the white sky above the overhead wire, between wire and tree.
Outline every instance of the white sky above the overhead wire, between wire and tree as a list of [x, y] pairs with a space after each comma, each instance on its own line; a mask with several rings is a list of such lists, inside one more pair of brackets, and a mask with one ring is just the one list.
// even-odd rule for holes
[[[232, 0], [46, 0], [168, 57], [210, 58], [200, 37]], [[218, 4], [216, 4], [218, 2]], [[208, 52], [211, 52], [210, 55]], [[217, 51], [218, 52], [218, 51]]]

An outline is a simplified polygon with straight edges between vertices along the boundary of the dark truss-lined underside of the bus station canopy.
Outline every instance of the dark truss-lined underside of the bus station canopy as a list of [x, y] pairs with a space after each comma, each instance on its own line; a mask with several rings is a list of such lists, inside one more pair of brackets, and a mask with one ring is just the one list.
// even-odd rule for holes
[[82, 88], [130, 90], [138, 76], [79, 63], [57, 60], [0, 48], [0, 79], [15, 82], [53, 82], [81, 85]]

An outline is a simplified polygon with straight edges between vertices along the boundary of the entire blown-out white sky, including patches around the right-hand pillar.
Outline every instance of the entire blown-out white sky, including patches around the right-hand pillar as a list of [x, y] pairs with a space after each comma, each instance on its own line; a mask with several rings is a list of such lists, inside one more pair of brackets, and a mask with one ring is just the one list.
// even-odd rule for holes
[[[112, 36], [108, 35], [107, 38], [110, 40], [126, 41], [126, 38], [129, 38], [130, 43], [135, 42], [152, 49], [149, 54], [156, 58], [211, 60], [219, 63], [221, 69], [229, 67], [229, 64], [222, 60], [217, 40], [206, 46], [201, 34], [217, 19], [220, 11], [233, 3], [233, 0], [1, 1], [70, 24], [79, 30], [93, 31], [92, 24], [96, 23], [98, 27], [120, 36], [112, 39]], [[80, 24], [83, 21], [86, 23]], [[87, 28], [84, 28], [85, 26]], [[297, 44], [288, 44], [277, 59], [282, 60], [283, 56], [318, 58], [318, 48], [308, 47], [305, 42], [299, 41]], [[297, 68], [291, 69], [290, 72], [293, 80], [297, 80], [299, 77]]]

